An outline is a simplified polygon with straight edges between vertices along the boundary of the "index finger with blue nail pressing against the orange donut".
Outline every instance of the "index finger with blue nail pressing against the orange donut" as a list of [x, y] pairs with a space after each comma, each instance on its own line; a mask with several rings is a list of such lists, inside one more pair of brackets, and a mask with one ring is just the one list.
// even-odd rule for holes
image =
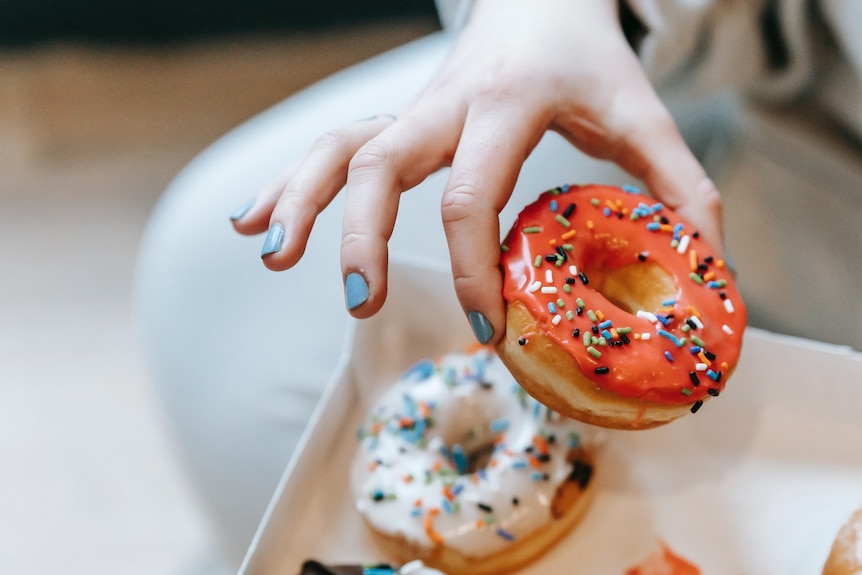
[[[477, 107], [478, 108], [478, 107]], [[546, 122], [509, 106], [471, 108], [441, 205], [455, 291], [480, 343], [505, 333], [499, 213]]]

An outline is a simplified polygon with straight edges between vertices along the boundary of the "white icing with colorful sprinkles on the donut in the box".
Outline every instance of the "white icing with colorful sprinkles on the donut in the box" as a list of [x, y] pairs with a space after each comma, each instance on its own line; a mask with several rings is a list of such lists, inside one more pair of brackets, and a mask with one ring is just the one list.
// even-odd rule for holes
[[[489, 390], [495, 395], [486, 400]], [[453, 398], [466, 397], [502, 411], [482, 424], [472, 412], [455, 423], [452, 410], [469, 408], [456, 407], [464, 404]], [[522, 524], [522, 514], [550, 514], [538, 502], [552, 499], [559, 484], [577, 480], [586, 488], [592, 466], [581, 452], [580, 424], [527, 395], [489, 348], [421, 361], [386, 398], [357, 433], [368, 461], [368, 487], [359, 492], [357, 506], [380, 513], [399, 509], [402, 517], [387, 523], [406, 521], [431, 545], [452, 544], [464, 529], [454, 529], [452, 521], [469, 521], [489, 541], [508, 545], [536, 528], [533, 519]], [[438, 430], [441, 419], [449, 422], [448, 431]], [[467, 427], [456, 440], [443, 441], [461, 426]], [[405, 472], [405, 466], [414, 467]]]

